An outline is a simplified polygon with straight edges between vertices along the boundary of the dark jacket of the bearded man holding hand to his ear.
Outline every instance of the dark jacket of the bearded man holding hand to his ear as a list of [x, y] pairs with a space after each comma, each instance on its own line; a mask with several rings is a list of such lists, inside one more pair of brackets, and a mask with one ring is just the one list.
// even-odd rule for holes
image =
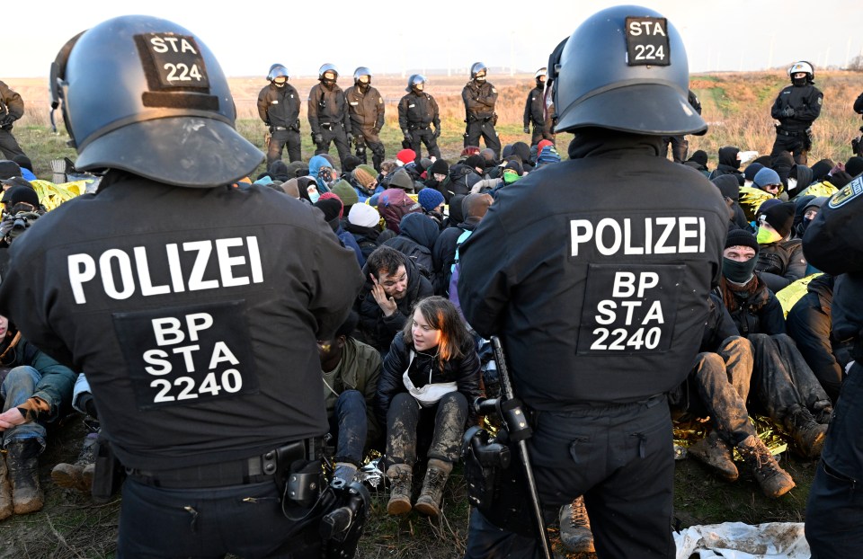
[[420, 299], [432, 296], [432, 283], [425, 279], [414, 266], [414, 262], [407, 257], [405, 257], [405, 271], [407, 272], [405, 297], [396, 301], [398, 309], [395, 313], [384, 316], [384, 311], [380, 309], [378, 301], [371, 294], [372, 283], [369, 279], [371, 271], [368, 263], [362, 269], [362, 277], [366, 279], [366, 283], [354, 303], [354, 310], [360, 315], [360, 332], [364, 334], [366, 343], [381, 353], [389, 349], [393, 337], [405, 326], [414, 304]]

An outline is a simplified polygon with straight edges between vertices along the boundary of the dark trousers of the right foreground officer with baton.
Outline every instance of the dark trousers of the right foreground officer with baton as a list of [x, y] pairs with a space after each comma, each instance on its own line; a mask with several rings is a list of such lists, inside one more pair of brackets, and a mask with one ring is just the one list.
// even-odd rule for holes
[[[675, 556], [672, 420], [665, 395], [537, 413], [529, 451], [544, 507], [584, 495], [600, 559]], [[495, 527], [474, 509], [465, 557], [532, 559], [541, 557], [541, 546]]]

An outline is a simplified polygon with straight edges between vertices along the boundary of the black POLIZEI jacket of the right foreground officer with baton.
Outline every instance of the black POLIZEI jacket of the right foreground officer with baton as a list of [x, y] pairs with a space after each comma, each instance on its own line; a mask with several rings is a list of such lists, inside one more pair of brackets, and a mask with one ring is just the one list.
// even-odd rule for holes
[[661, 138], [577, 135], [570, 161], [498, 191], [460, 248], [467, 322], [503, 334], [540, 410], [661, 394], [692, 367], [728, 210]]

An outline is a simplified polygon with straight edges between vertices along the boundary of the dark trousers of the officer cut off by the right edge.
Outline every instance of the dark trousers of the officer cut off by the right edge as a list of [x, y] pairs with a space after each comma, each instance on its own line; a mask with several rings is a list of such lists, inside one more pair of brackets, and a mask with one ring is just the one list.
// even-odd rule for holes
[[812, 559], [863, 550], [863, 366], [851, 365], [806, 504]]

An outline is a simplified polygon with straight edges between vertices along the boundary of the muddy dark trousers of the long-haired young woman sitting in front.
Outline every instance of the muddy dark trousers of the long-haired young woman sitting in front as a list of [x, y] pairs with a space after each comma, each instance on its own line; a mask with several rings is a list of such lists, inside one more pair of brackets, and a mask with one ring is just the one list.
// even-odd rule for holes
[[402, 392], [393, 396], [387, 410], [387, 464], [416, 464], [419, 431], [433, 421], [432, 444], [427, 456], [456, 462], [467, 421], [467, 398], [450, 392], [440, 401], [423, 408], [414, 396]]

